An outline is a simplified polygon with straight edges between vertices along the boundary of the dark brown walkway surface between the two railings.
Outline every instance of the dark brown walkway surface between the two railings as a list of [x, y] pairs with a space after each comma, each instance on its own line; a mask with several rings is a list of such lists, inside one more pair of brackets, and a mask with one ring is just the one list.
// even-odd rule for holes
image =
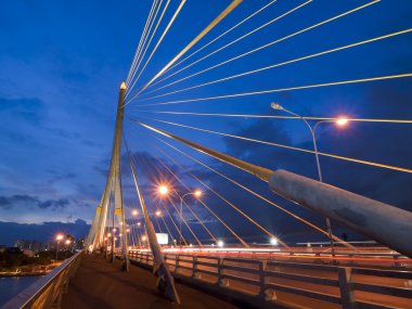
[[171, 304], [157, 292], [156, 278], [150, 271], [130, 266], [125, 273], [119, 262], [113, 265], [89, 255], [70, 280], [62, 308], [240, 308], [186, 285], [177, 284], [177, 289], [181, 305]]

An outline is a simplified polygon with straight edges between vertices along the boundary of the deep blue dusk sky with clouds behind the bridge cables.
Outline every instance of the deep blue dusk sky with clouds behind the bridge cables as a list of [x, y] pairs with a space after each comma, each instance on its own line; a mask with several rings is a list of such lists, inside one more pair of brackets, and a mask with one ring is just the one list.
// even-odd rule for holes
[[[127, 100], [230, 2], [188, 0]], [[166, 3], [162, 1], [157, 16]], [[140, 68], [179, 4], [178, 0], [169, 1]], [[158, 80], [176, 73], [170, 78], [155, 82], [142, 95], [130, 101], [125, 112], [125, 137], [136, 156], [138, 175], [151, 211], [159, 207], [159, 199], [154, 194], [157, 183], [168, 182], [179, 193], [188, 192], [167, 170], [169, 168], [188, 188], [201, 188], [205, 192], [203, 201], [245, 240], [260, 241], [265, 236], [213, 191], [286, 241], [324, 240], [301, 222], [236, 188], [156, 138], [322, 228], [323, 218], [276, 196], [266, 183], [252, 176], [155, 136], [137, 124], [146, 123], [273, 170], [282, 168], [317, 179], [312, 154], [172, 125], [182, 124], [312, 150], [309, 130], [300, 119], [158, 112], [286, 115], [270, 108], [270, 103], [275, 101], [304, 116], [412, 119], [411, 77], [291, 89], [411, 74], [411, 33], [282, 64], [410, 29], [412, 2], [409, 0], [244, 0], [181, 60], [267, 4], [265, 10], [166, 72]], [[118, 88], [128, 76], [151, 5], [151, 1], [130, 0], [121, 1], [121, 4], [77, 0], [20, 0], [0, 4], [0, 245], [10, 245], [17, 239], [50, 241], [60, 230], [78, 236], [87, 232], [106, 181]], [[361, 5], [364, 8], [308, 28]], [[276, 40], [267, 48], [210, 68]], [[228, 43], [231, 44], [226, 47]], [[186, 89], [274, 64], [282, 65]], [[184, 69], [179, 72], [181, 68]], [[206, 68], [210, 69], [203, 72]], [[250, 93], [265, 90], [275, 91]], [[249, 94], [215, 98], [240, 93]], [[317, 137], [321, 152], [412, 169], [412, 124], [349, 121], [343, 128], [322, 124]], [[139, 205], [125, 147], [121, 164], [125, 205], [129, 214]], [[321, 157], [321, 166], [324, 181], [332, 185], [412, 210], [412, 175], [408, 171], [327, 157]], [[188, 198], [188, 203], [216, 236], [231, 237], [198, 202]], [[171, 215], [177, 219], [172, 210]], [[209, 237], [189, 210], [184, 216], [202, 239]], [[335, 223], [334, 227], [337, 235], [344, 231]], [[349, 232], [350, 236], [357, 237]]]

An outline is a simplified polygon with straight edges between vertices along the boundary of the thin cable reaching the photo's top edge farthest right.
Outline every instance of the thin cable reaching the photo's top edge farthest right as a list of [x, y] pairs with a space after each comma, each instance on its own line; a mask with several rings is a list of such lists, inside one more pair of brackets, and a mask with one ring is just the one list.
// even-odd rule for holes
[[[219, 67], [219, 66], [226, 65], [226, 64], [228, 64], [228, 63], [230, 63], [230, 62], [233, 62], [233, 61], [235, 61], [235, 60], [242, 59], [242, 57], [244, 57], [244, 56], [246, 56], [246, 55], [249, 55], [249, 54], [253, 54], [253, 53], [255, 53], [255, 52], [257, 52], [257, 51], [263, 50], [263, 49], [266, 49], [266, 48], [268, 48], [268, 47], [274, 46], [274, 44], [276, 44], [276, 43], [280, 43], [280, 42], [282, 42], [282, 41], [285, 41], [285, 40], [287, 40], [287, 39], [291, 39], [291, 38], [293, 38], [293, 37], [296, 37], [296, 36], [300, 35], [300, 34], [304, 34], [304, 33], [306, 33], [306, 31], [309, 31], [309, 30], [311, 30], [311, 29], [314, 29], [314, 28], [317, 28], [317, 27], [320, 27], [320, 26], [322, 26], [322, 25], [325, 25], [325, 24], [327, 24], [327, 23], [331, 23], [331, 22], [333, 22], [333, 21], [336, 21], [336, 20], [338, 20], [338, 18], [342, 18], [342, 17], [344, 17], [344, 16], [346, 16], [346, 15], [352, 14], [352, 13], [355, 13], [355, 12], [357, 12], [357, 11], [360, 11], [360, 10], [362, 10], [362, 9], [365, 9], [365, 8], [368, 8], [368, 7], [372, 5], [372, 4], [375, 4], [375, 3], [379, 2], [379, 1], [381, 1], [381, 0], [374, 0], [374, 1], [371, 1], [371, 2], [369, 2], [369, 3], [366, 3], [366, 4], [363, 4], [363, 5], [357, 7], [357, 8], [352, 9], [352, 10], [347, 11], [347, 12], [344, 12], [344, 13], [342, 13], [342, 14], [335, 15], [335, 16], [333, 16], [333, 17], [331, 17], [331, 18], [327, 18], [327, 20], [325, 20], [325, 21], [322, 21], [322, 22], [317, 23], [317, 24], [314, 24], [314, 25], [311, 25], [311, 26], [309, 26], [309, 27], [302, 28], [302, 29], [300, 29], [300, 30], [298, 30], [298, 31], [295, 31], [295, 33], [293, 33], [293, 34], [291, 34], [291, 35], [284, 36], [284, 37], [282, 37], [282, 38], [280, 38], [280, 39], [276, 39], [276, 40], [274, 40], [274, 41], [271, 41], [271, 42], [266, 43], [266, 44], [263, 44], [263, 46], [260, 46], [260, 47], [258, 47], [258, 48], [252, 49], [252, 50], [249, 50], [249, 51], [247, 51], [247, 52], [244, 52], [244, 53], [242, 53], [242, 54], [239, 54], [239, 55], [236, 55], [236, 56], [234, 56], [234, 57], [231, 57], [231, 59], [229, 59], [229, 60], [226, 60], [226, 61], [223, 61], [223, 62], [220, 62], [220, 63], [218, 63], [218, 64], [215, 64], [215, 65], [213, 65], [213, 66], [210, 66], [210, 67], [207, 67], [207, 68], [205, 68], [205, 69], [202, 69], [202, 70], [199, 70], [199, 72], [196, 72], [196, 73], [194, 73], [194, 74], [192, 74], [192, 75], [189, 75], [189, 76], [186, 76], [186, 77], [183, 77], [183, 78], [181, 78], [181, 79], [178, 79], [177, 81], [170, 82], [170, 83], [165, 85], [165, 86], [159, 87], [159, 88], [156, 88], [155, 90], [151, 90], [151, 91], [146, 92], [146, 94], [147, 94], [147, 93], [153, 93], [153, 92], [158, 91], [158, 90], [160, 90], [160, 89], [164, 89], [164, 88], [166, 88], [166, 87], [172, 86], [172, 85], [175, 85], [175, 83], [177, 83], [177, 82], [183, 81], [183, 80], [185, 80], [185, 79], [188, 79], [188, 78], [192, 78], [192, 77], [197, 76], [197, 75], [199, 75], [199, 74], [206, 73], [206, 72], [208, 72], [208, 70], [210, 70], [210, 69], [214, 69], [214, 68], [216, 68], [216, 67]], [[189, 66], [188, 66], [188, 67], [189, 67]], [[181, 69], [181, 70], [182, 70], [182, 69]], [[175, 73], [175, 74], [176, 74], [176, 73]]]

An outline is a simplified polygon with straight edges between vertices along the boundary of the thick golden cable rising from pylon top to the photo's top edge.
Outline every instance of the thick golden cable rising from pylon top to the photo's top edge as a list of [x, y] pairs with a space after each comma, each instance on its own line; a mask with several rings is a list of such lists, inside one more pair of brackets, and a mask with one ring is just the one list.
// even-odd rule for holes
[[[233, 0], [229, 7], [227, 7], [206, 28], [204, 28], [188, 46], [185, 46], [166, 66], [164, 66], [140, 91], [146, 89], [153, 81], [162, 76], [167, 68], [169, 68], [175, 62], [177, 62], [182, 55], [184, 55], [194, 44], [196, 44], [204, 36], [206, 36], [217, 24], [219, 24], [227, 15], [229, 15], [243, 0]], [[133, 95], [133, 100], [138, 94]], [[129, 104], [129, 101], [125, 103], [125, 106]]]

